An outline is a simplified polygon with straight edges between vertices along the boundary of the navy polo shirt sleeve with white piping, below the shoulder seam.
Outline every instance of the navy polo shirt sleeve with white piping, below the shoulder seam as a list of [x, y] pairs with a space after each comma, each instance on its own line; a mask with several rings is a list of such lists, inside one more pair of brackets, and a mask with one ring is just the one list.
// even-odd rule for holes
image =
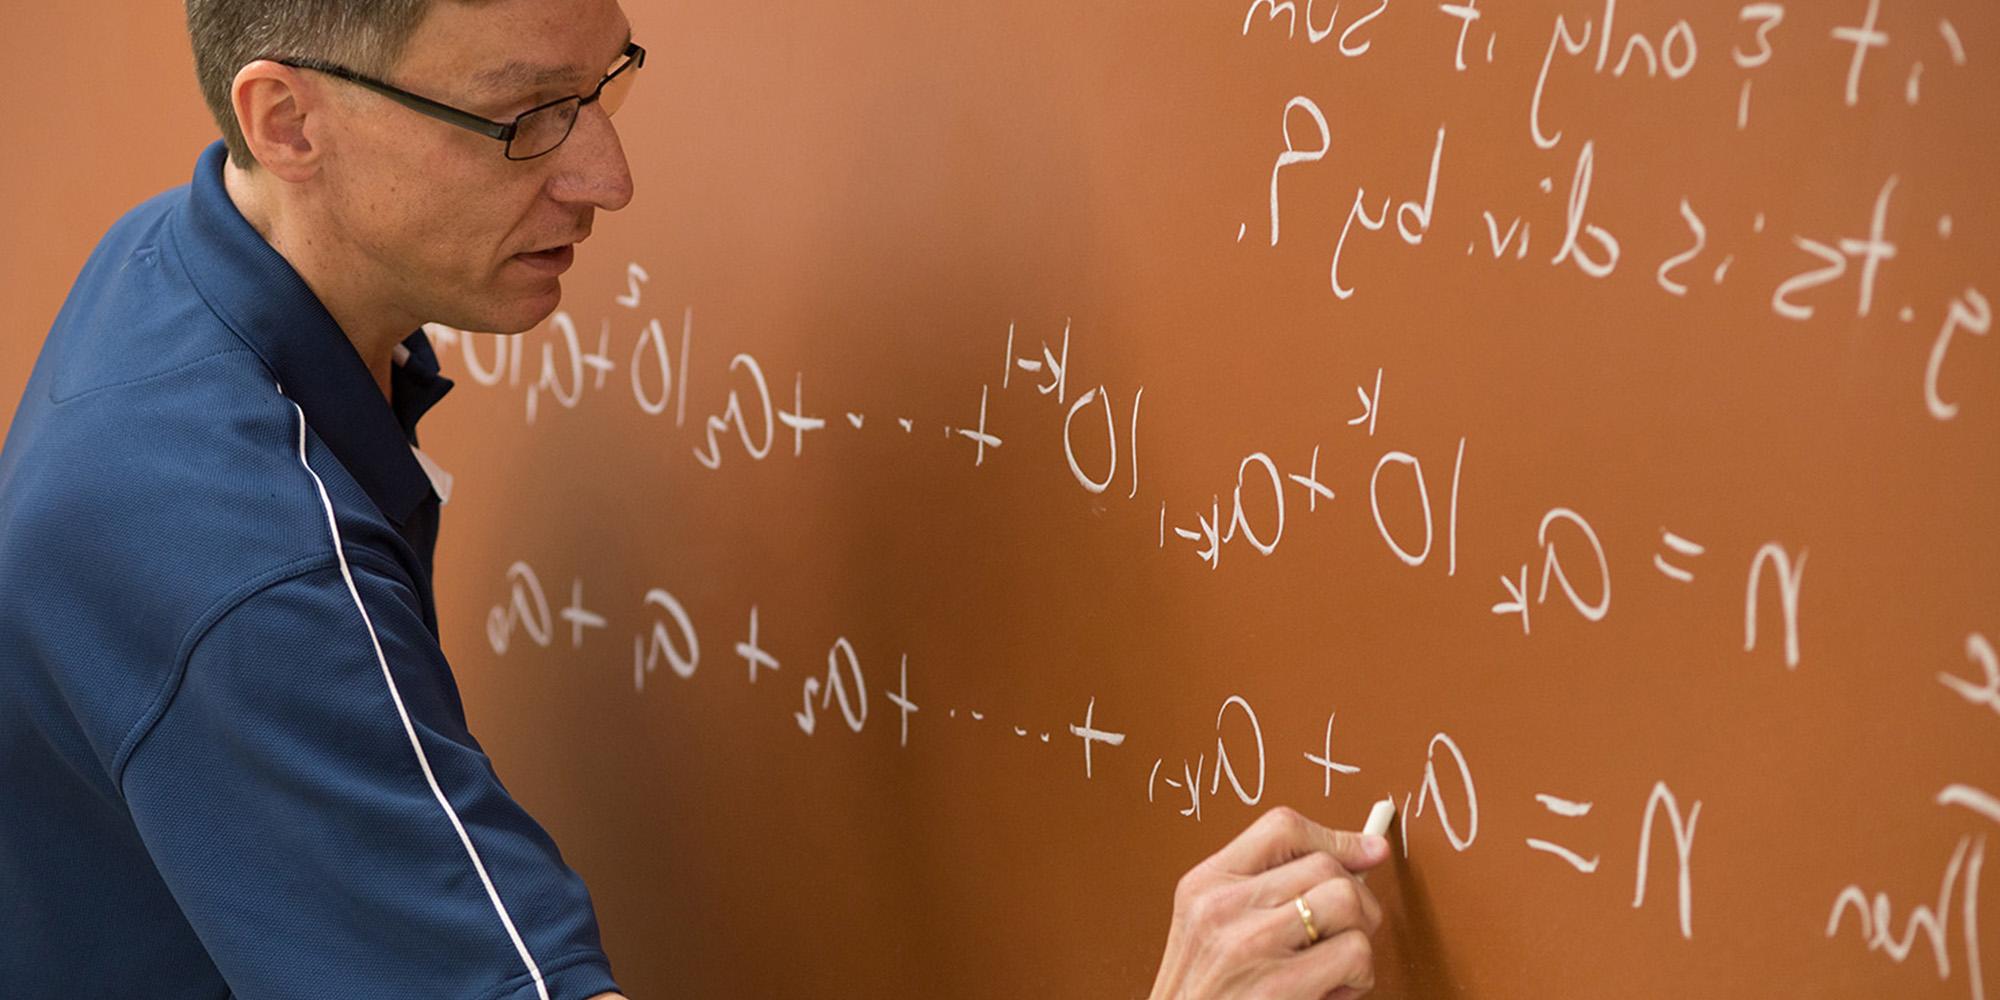
[[124, 768], [216, 968], [244, 1000], [616, 990], [582, 878], [466, 730], [416, 594], [352, 572], [226, 612]]

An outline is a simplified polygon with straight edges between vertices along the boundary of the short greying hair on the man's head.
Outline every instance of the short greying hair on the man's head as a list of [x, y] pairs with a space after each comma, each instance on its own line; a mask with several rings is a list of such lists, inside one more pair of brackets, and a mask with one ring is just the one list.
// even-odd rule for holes
[[188, 40], [194, 76], [208, 112], [222, 128], [230, 160], [252, 168], [230, 84], [260, 58], [290, 56], [336, 62], [384, 76], [402, 58], [434, 0], [188, 0]]

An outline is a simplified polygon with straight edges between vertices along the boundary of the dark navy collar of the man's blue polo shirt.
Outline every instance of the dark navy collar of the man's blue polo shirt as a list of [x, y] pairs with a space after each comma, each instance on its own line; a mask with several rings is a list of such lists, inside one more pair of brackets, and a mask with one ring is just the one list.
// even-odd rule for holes
[[[314, 434], [398, 526], [430, 494], [430, 478], [410, 454], [416, 420], [452, 388], [422, 330], [404, 340], [410, 356], [382, 398], [368, 364], [306, 280], [260, 236], [222, 186], [226, 146], [216, 142], [194, 166], [194, 184], [174, 214], [174, 238], [208, 308], [278, 376], [306, 412]], [[398, 352], [400, 354], [400, 352]]]

